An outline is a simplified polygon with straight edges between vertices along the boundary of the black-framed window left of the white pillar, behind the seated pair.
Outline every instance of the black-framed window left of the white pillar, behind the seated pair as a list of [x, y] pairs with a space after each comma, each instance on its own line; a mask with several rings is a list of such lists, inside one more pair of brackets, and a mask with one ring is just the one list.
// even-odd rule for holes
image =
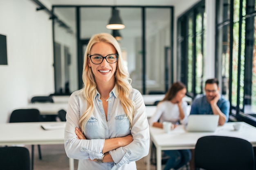
[[178, 18], [178, 60], [180, 81], [191, 97], [203, 93], [204, 47], [206, 17], [204, 1]]

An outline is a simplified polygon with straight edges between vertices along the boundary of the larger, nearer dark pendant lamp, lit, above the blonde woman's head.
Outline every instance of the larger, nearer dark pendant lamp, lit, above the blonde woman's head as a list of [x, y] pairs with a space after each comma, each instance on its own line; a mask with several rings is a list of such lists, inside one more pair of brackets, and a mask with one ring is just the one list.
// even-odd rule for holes
[[111, 30], [124, 29], [125, 27], [119, 16], [119, 11], [115, 7], [112, 8], [112, 16], [106, 27]]

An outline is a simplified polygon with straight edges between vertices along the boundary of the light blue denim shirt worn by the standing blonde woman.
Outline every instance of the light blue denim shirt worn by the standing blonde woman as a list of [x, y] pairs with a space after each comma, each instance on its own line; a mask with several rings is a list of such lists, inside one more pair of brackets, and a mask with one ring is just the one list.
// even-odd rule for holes
[[[130, 99], [135, 102], [131, 130], [130, 121], [121, 106], [116, 87], [109, 94], [108, 121], [100, 94], [97, 92], [94, 99], [94, 113], [85, 124], [86, 139], [77, 139], [75, 127], [79, 127], [79, 118], [87, 109], [87, 102], [82, 93], [82, 90], [74, 92], [70, 96], [67, 107], [65, 127], [67, 156], [79, 159], [78, 170], [136, 170], [135, 161], [148, 155], [150, 138], [146, 107], [140, 92], [133, 89], [130, 94]], [[109, 152], [114, 162], [98, 163], [89, 160], [100, 158], [103, 155], [102, 149], [105, 139], [124, 137], [128, 134], [131, 134], [133, 138], [130, 144]]]

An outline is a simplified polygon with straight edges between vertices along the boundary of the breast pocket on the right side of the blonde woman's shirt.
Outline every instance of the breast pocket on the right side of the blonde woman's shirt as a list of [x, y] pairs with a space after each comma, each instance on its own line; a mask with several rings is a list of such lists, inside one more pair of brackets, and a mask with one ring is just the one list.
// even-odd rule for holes
[[128, 116], [120, 115], [115, 117], [115, 129], [120, 136], [130, 134], [130, 121]]

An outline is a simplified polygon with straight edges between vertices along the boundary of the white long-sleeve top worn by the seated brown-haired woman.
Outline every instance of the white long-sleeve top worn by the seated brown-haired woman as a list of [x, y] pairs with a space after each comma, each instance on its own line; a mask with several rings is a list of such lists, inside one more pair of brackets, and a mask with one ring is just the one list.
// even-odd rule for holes
[[172, 122], [173, 124], [177, 124], [177, 122], [180, 121], [181, 124], [186, 124], [188, 121], [188, 117], [186, 114], [187, 105], [188, 104], [186, 101], [182, 101], [184, 118], [180, 120], [180, 111], [178, 104], [174, 104], [168, 100], [159, 102], [154, 115], [149, 120], [150, 126], [153, 126], [154, 122], [157, 122], [158, 120], [160, 123], [167, 121]]

